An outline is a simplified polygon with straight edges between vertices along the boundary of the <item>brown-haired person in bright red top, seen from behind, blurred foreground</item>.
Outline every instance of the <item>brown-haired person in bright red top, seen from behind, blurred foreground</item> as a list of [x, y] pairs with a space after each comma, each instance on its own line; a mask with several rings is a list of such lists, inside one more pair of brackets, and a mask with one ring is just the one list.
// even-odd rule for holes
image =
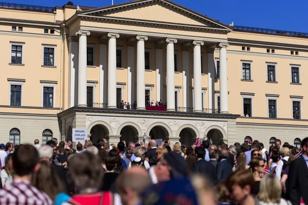
[[69, 173], [76, 190], [70, 204], [113, 204], [111, 192], [99, 192], [103, 180], [103, 167], [97, 155], [90, 152], [75, 154], [69, 159]]

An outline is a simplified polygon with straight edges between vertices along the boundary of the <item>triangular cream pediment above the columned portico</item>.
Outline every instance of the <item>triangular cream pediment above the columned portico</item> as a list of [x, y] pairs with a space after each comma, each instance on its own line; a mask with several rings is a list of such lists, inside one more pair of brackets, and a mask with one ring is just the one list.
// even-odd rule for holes
[[110, 7], [103, 7], [79, 13], [92, 17], [122, 18], [145, 20], [192, 27], [207, 27], [214, 29], [230, 28], [214, 19], [191, 11], [168, 0], [140, 0]]

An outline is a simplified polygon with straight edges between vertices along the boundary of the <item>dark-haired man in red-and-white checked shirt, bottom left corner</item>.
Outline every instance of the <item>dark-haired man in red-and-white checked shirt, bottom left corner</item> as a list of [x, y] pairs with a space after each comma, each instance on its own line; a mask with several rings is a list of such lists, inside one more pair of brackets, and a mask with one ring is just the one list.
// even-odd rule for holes
[[0, 204], [46, 204], [50, 197], [31, 185], [31, 176], [40, 168], [38, 153], [32, 145], [20, 145], [12, 155], [14, 181], [11, 186], [0, 190]]

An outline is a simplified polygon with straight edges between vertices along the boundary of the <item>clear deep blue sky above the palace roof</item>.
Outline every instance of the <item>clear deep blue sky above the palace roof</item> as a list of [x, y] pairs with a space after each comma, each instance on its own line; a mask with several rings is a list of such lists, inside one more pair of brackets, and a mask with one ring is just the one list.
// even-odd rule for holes
[[[0, 0], [1, 1], [1, 0]], [[3, 0], [5, 1], [5, 0]], [[39, 6], [63, 6], [69, 0], [39, 1], [12, 0], [10, 3]], [[111, 0], [81, 1], [70, 0], [74, 5], [103, 7], [111, 5]], [[234, 22], [239, 26], [251, 26], [308, 33], [307, 0], [172, 0], [224, 24]], [[113, 0], [114, 4], [127, 2]]]

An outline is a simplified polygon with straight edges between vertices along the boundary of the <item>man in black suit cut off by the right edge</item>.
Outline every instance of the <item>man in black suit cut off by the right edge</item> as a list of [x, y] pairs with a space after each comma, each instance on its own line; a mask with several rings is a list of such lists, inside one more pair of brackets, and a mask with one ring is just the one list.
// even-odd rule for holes
[[299, 205], [300, 199], [308, 204], [308, 137], [301, 142], [302, 156], [290, 163], [286, 181], [286, 197], [293, 205]]

